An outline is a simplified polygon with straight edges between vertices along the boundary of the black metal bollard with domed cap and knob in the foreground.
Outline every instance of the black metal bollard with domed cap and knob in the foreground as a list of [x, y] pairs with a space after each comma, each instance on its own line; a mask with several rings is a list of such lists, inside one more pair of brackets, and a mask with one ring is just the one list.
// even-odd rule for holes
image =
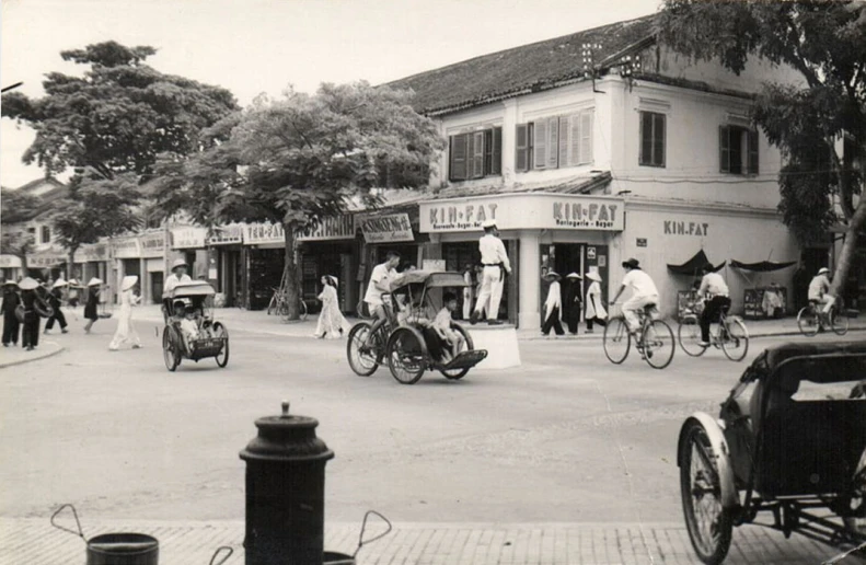
[[334, 457], [315, 436], [319, 420], [281, 416], [255, 420], [246, 461], [246, 565], [321, 565], [325, 530], [325, 463]]

